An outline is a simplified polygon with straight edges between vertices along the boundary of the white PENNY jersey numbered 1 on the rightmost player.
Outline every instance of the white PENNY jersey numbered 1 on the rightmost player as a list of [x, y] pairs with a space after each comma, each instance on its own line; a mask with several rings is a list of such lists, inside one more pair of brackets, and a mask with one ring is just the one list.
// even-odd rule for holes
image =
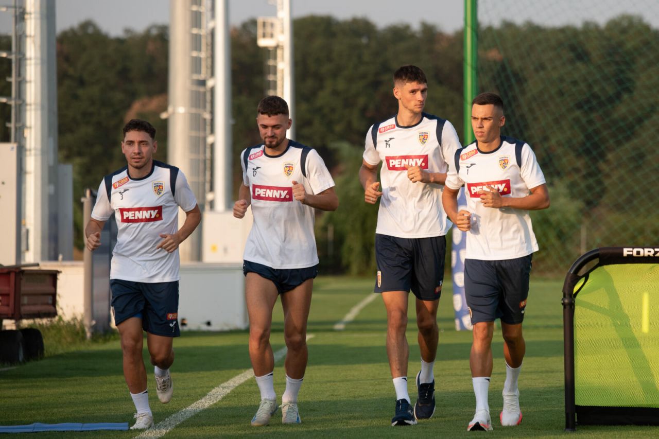
[[501, 145], [492, 152], [478, 150], [478, 142], [455, 154], [446, 187], [465, 185], [471, 230], [467, 232], [465, 258], [503, 260], [538, 251], [528, 210], [486, 208], [478, 190], [496, 187], [501, 196], [521, 198], [544, 185], [544, 175], [529, 144], [501, 136]]

